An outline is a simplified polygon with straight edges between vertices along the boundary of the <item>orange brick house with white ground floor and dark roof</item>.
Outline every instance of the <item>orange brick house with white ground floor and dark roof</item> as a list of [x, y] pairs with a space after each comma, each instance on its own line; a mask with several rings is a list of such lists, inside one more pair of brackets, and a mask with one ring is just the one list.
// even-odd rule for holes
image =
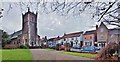
[[84, 33], [83, 46], [96, 46], [96, 30], [86, 31]]

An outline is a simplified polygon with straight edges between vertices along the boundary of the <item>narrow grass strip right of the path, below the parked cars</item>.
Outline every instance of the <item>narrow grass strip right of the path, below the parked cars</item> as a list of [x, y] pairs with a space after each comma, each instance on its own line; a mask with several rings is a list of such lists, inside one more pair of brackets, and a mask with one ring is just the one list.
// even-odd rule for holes
[[96, 57], [96, 54], [90, 54], [90, 53], [77, 53], [77, 52], [61, 52], [61, 53], [74, 55], [74, 56], [85, 57], [85, 58], [91, 58], [91, 59]]

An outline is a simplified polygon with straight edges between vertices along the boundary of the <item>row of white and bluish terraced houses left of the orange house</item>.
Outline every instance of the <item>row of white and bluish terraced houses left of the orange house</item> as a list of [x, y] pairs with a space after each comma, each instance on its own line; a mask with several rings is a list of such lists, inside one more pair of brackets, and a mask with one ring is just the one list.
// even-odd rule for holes
[[[48, 40], [49, 47], [56, 47], [57, 44], [65, 47], [65, 44], [70, 44], [71, 48], [81, 48], [83, 46], [83, 32], [64, 34], [62, 37], [50, 38]], [[61, 47], [62, 48], [62, 47]]]

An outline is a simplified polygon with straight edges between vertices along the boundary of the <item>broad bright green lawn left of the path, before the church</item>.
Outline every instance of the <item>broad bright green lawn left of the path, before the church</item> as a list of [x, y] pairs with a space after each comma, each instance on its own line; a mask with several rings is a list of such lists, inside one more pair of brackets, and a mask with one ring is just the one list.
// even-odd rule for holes
[[5, 49], [2, 51], [2, 60], [32, 60], [29, 49]]

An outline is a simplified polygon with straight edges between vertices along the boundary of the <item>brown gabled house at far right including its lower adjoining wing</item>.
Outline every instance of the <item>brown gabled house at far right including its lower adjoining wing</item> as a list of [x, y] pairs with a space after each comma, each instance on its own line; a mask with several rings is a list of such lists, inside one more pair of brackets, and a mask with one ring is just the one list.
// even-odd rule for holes
[[119, 43], [120, 28], [108, 29], [107, 26], [101, 22], [97, 30], [97, 44], [98, 47], [105, 47], [108, 43]]

